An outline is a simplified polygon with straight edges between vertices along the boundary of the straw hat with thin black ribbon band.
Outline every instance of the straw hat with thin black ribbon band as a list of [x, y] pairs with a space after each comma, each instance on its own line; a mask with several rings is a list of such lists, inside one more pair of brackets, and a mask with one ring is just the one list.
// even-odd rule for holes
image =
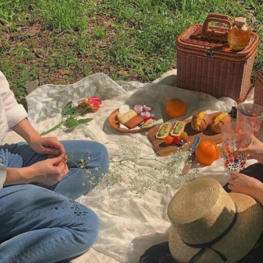
[[169, 248], [178, 263], [235, 263], [263, 230], [263, 209], [252, 197], [223, 190], [200, 178], [182, 187], [168, 204], [173, 224]]

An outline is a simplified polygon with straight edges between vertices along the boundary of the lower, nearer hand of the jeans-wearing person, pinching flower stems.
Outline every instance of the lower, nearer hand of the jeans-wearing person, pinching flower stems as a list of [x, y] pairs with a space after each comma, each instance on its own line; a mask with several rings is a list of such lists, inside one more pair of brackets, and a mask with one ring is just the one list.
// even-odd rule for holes
[[34, 176], [29, 178], [29, 181], [46, 185], [53, 185], [61, 181], [69, 171], [63, 155], [36, 162], [31, 165], [31, 168]]

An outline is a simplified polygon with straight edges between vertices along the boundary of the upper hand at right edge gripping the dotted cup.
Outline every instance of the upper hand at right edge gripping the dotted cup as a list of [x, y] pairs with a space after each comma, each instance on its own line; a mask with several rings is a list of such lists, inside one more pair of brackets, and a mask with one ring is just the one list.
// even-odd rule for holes
[[258, 162], [263, 164], [263, 143], [252, 135], [251, 143], [247, 148], [238, 149], [234, 155], [250, 154]]

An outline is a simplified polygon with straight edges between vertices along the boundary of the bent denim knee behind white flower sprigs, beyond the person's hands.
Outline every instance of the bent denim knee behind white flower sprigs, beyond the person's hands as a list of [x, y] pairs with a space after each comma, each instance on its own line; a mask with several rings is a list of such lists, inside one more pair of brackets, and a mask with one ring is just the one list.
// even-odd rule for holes
[[94, 187], [108, 170], [109, 157], [104, 145], [93, 141], [62, 141], [70, 172], [50, 190], [77, 199]]

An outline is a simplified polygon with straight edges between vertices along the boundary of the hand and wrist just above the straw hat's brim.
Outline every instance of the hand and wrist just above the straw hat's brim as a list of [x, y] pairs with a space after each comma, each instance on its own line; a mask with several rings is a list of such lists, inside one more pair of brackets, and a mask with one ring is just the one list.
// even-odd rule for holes
[[239, 173], [231, 173], [230, 177], [228, 189], [232, 193], [249, 195], [263, 205], [263, 183], [254, 177]]

